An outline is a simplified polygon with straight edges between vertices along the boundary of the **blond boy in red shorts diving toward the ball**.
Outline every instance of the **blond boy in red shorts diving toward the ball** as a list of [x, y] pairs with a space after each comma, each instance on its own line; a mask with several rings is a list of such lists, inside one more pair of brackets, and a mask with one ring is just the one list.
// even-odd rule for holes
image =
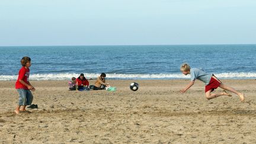
[[[241, 101], [245, 100], [244, 94], [236, 91], [234, 88], [229, 87], [228, 85], [223, 84], [212, 73], [206, 73], [197, 68], [190, 68], [190, 65], [188, 65], [187, 63], [183, 63], [183, 65], [181, 65], [180, 71], [184, 75], [187, 75], [187, 74], [191, 75], [190, 83], [187, 85], [187, 87], [181, 89], [181, 91], [180, 91], [181, 94], [184, 94], [184, 92], [187, 91], [187, 89], [189, 89], [192, 85], [194, 85], [194, 81], [196, 81], [196, 79], [199, 79], [200, 81], [203, 81], [206, 85], [205, 86], [205, 94], [206, 94], [206, 98], [208, 100], [222, 96], [222, 95], [228, 95], [229, 97], [231, 97], [232, 95], [228, 94], [225, 90], [228, 90], [228, 91], [233, 92], [234, 94], [237, 94], [240, 97]], [[214, 91], [214, 89], [216, 89], [217, 87], [220, 87], [225, 90], [220, 93], [217, 93], [217, 94], [211, 94], [211, 92]]]

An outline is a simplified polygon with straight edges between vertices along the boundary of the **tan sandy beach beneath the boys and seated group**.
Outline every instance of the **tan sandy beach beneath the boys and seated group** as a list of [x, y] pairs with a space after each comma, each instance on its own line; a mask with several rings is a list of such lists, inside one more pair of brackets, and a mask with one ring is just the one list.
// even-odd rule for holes
[[256, 143], [255, 79], [222, 80], [244, 103], [235, 94], [207, 100], [200, 81], [184, 95], [188, 80], [139, 80], [135, 92], [133, 80], [109, 80], [116, 92], [30, 82], [39, 108], [17, 115], [15, 81], [0, 81], [0, 143]]

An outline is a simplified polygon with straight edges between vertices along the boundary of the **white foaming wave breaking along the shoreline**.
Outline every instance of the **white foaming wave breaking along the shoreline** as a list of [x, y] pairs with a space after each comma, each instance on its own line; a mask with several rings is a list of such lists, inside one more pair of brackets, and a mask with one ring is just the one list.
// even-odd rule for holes
[[[84, 73], [87, 79], [95, 79], [100, 73]], [[235, 73], [215, 73], [217, 78], [222, 79], [254, 79], [256, 72], [235, 72]], [[78, 77], [79, 73], [59, 73], [59, 74], [31, 74], [30, 80], [69, 80]], [[18, 75], [0, 75], [0, 81], [16, 80]], [[122, 74], [107, 73], [107, 79], [189, 79], [190, 75], [182, 73], [159, 73], [159, 74]]]

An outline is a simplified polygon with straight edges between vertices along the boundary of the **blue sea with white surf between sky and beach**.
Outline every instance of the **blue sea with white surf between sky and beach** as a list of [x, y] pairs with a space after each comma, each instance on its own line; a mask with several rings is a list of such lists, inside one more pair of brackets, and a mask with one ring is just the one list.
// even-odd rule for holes
[[256, 44], [139, 46], [1, 46], [0, 81], [16, 80], [23, 56], [31, 58], [30, 80], [189, 79], [182, 63], [220, 79], [255, 79]]

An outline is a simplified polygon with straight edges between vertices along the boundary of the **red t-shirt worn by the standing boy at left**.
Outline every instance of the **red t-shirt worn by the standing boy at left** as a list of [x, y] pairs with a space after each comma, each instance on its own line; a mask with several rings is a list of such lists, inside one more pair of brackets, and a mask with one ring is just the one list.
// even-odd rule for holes
[[25, 68], [25, 66], [23, 66], [20, 71], [19, 71], [19, 75], [18, 75], [18, 79], [16, 81], [15, 84], [15, 88], [16, 89], [28, 89], [25, 85], [21, 84], [21, 82], [19, 81], [20, 79], [23, 80], [26, 84], [28, 84], [28, 77], [29, 77], [29, 72], [30, 69], [29, 68]]

